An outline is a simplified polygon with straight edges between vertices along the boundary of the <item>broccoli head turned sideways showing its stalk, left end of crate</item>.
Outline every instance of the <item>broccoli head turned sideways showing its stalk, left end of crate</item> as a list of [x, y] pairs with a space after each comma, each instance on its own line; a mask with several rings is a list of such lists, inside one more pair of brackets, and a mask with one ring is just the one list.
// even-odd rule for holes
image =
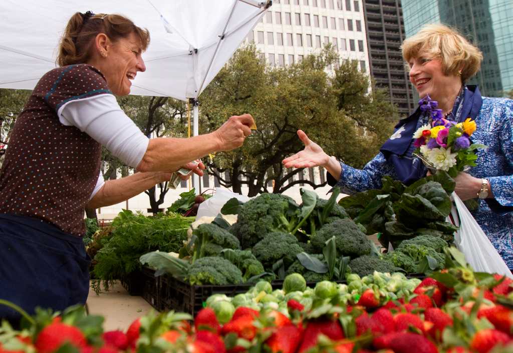
[[206, 256], [218, 256], [223, 249], [240, 248], [239, 239], [214, 223], [200, 224], [192, 231], [198, 237], [194, 241], [192, 261]]

